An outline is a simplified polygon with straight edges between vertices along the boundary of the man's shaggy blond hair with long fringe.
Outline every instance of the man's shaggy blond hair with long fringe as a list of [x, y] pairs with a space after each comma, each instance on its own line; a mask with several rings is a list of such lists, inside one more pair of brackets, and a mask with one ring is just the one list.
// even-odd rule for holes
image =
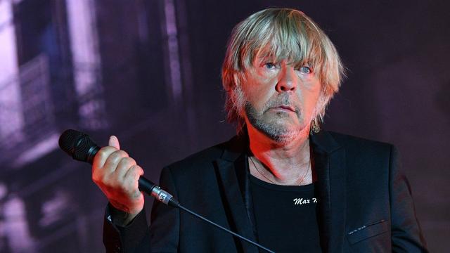
[[237, 122], [238, 132], [245, 124], [240, 115], [245, 101], [239, 83], [259, 53], [312, 67], [322, 84], [314, 117], [322, 122], [326, 106], [345, 76], [344, 67], [335, 46], [319, 26], [301, 11], [290, 8], [259, 11], [233, 28], [222, 66], [228, 122]]

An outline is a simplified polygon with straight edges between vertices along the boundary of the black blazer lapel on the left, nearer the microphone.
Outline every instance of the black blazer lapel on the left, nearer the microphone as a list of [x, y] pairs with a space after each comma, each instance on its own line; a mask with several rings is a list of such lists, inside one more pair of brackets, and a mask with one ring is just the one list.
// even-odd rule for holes
[[[251, 200], [248, 190], [247, 155], [245, 154], [247, 146], [245, 143], [240, 143], [240, 145], [234, 145], [234, 147], [239, 149], [226, 149], [221, 159], [216, 161], [217, 180], [222, 193], [224, 193], [226, 202], [224, 204], [227, 209], [226, 213], [229, 214], [227, 219], [229, 219], [231, 231], [256, 242], [253, 231], [255, 226], [252, 226], [252, 215], [250, 214], [252, 208], [249, 208]], [[235, 241], [237, 245], [242, 245], [243, 252], [259, 252], [256, 246], [248, 242], [238, 238]]]

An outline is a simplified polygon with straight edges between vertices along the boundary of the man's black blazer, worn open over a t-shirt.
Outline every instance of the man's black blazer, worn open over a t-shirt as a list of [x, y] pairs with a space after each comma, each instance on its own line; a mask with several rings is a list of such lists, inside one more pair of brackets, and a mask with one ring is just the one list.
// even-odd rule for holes
[[[327, 131], [310, 141], [323, 252], [427, 252], [394, 146]], [[247, 161], [248, 140], [235, 137], [165, 167], [160, 186], [184, 207], [257, 241]], [[124, 228], [105, 219], [103, 242], [107, 252], [150, 252], [150, 245], [151, 252], [258, 252], [160, 202], [149, 228], [145, 212]]]

